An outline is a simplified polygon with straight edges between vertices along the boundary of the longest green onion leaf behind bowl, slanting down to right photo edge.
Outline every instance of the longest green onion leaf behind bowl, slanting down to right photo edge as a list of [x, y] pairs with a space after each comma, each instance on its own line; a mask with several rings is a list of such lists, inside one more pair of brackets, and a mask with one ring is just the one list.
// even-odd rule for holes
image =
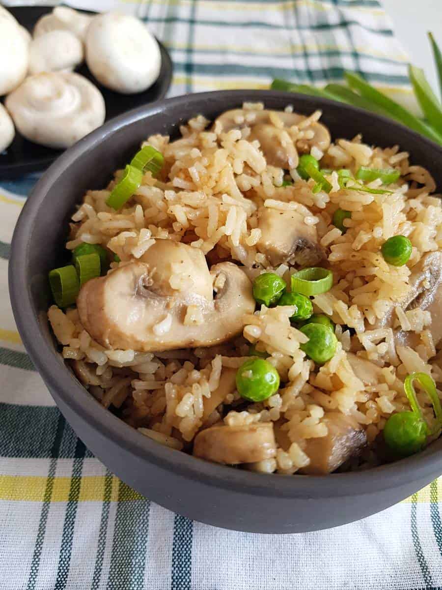
[[391, 100], [379, 90], [376, 90], [364, 78], [353, 72], [345, 72], [345, 79], [352, 89], [357, 90], [365, 99], [371, 100], [374, 104], [382, 107], [390, 117], [442, 145], [441, 133], [438, 133], [433, 127], [425, 124], [400, 104], [395, 103], [394, 100]]

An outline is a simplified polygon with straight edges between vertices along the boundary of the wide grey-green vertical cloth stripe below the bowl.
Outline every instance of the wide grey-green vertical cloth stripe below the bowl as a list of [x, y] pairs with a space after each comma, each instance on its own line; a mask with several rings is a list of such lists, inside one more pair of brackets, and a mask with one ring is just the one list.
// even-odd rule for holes
[[126, 500], [131, 496], [133, 490], [120, 481], [107, 590], [144, 589], [150, 501]]

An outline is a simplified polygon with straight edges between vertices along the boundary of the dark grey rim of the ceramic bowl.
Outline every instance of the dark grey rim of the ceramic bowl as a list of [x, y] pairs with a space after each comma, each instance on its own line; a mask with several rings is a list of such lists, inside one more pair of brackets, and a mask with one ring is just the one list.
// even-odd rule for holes
[[[232, 99], [238, 97], [238, 104], [246, 100], [263, 100], [266, 98], [286, 98], [287, 103], [300, 100], [314, 108], [335, 105], [335, 101], [310, 97], [296, 93], [286, 93], [275, 90], [220, 90], [212, 92], [195, 93], [187, 96], [177, 96], [156, 103], [138, 107], [124, 113], [94, 132], [90, 133], [74, 146], [64, 152], [42, 175], [34, 189], [29, 194], [27, 202], [22, 209], [11, 244], [11, 257], [9, 260], [9, 294], [12, 309], [19, 333], [25, 348], [44, 379], [48, 388], [57, 391], [62, 402], [75, 414], [84, 419], [90, 427], [97, 430], [103, 437], [112, 438], [114, 442], [131, 454], [143, 460], [155, 464], [166, 471], [173, 471], [178, 476], [200, 481], [208, 486], [216, 486], [222, 489], [234, 489], [239, 493], [254, 494], [266, 497], [309, 497], [319, 499], [322, 497], [346, 497], [355, 493], [375, 493], [377, 489], [392, 489], [410, 483], [410, 479], [424, 479], [434, 476], [438, 470], [442, 472], [442, 437], [434, 441], [424, 451], [407, 457], [395, 463], [384, 464], [367, 470], [334, 473], [325, 476], [307, 476], [296, 474], [296, 478], [282, 477], [279, 474], [262, 474], [251, 471], [234, 469], [216, 463], [210, 463], [187, 453], [176, 452], [164, 445], [137, 432], [135, 428], [127, 425], [123, 420], [113, 415], [104, 408], [83, 385], [74, 377], [73, 373], [65, 365], [64, 360], [57, 350], [51, 348], [50, 343], [44, 337], [37, 315], [32, 311], [32, 296], [30, 286], [27, 283], [27, 260], [29, 257], [28, 236], [34, 226], [35, 214], [41, 206], [45, 195], [58, 176], [68, 168], [78, 156], [90, 152], [98, 146], [101, 140], [112, 135], [122, 127], [144, 120], [158, 113], [166, 112], [186, 101], [187, 103], [210, 101], [214, 96], [220, 99]], [[354, 116], [370, 118], [388, 123], [388, 126], [402, 128], [410, 135], [410, 143], [419, 140], [427, 144], [428, 149], [436, 149], [442, 159], [442, 148], [407, 127], [396, 123], [386, 117], [368, 113], [358, 107], [340, 104], [342, 113], [347, 112]], [[410, 474], [413, 474], [410, 477]], [[279, 477], [278, 477], [279, 475]]]

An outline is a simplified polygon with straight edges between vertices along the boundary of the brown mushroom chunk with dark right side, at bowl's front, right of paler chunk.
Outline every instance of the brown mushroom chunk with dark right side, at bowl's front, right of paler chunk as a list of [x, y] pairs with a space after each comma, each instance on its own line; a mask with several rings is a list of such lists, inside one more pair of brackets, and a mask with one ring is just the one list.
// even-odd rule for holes
[[300, 473], [331, 473], [349, 458], [357, 457], [367, 444], [367, 436], [354, 418], [340, 412], [329, 412], [323, 422], [328, 428], [328, 434], [305, 441], [304, 452], [310, 458], [310, 464], [300, 469]]

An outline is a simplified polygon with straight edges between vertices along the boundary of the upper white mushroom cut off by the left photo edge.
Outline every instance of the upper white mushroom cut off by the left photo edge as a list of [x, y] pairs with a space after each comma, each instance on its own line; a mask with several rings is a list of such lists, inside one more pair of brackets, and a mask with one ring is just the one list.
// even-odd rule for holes
[[8, 94], [26, 77], [28, 42], [15, 19], [0, 15], [0, 95]]

